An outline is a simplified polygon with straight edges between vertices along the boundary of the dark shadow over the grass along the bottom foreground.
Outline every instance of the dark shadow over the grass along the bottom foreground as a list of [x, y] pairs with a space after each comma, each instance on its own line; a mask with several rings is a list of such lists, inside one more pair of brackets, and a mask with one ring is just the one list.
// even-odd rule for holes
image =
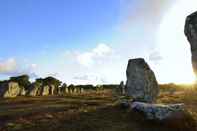
[[106, 106], [95, 110], [29, 114], [7, 124], [10, 131], [196, 131], [192, 117], [168, 122], [147, 121], [138, 113]]

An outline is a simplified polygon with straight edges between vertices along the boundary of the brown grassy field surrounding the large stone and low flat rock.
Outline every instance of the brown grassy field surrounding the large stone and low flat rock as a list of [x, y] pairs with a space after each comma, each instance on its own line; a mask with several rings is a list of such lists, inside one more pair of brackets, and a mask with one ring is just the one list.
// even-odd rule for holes
[[[195, 131], [197, 89], [162, 85], [160, 103], [185, 103], [192, 115], [174, 125], [149, 122], [123, 109], [110, 91], [65, 97], [0, 99], [1, 131]], [[175, 122], [174, 122], [175, 123]]]

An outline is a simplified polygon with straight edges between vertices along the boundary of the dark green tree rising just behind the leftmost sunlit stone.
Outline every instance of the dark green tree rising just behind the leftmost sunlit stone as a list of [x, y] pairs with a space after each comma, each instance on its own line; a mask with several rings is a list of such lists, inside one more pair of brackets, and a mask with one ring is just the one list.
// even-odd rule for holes
[[28, 88], [28, 86], [31, 84], [31, 82], [29, 81], [28, 75], [10, 77], [9, 81], [17, 82], [19, 84], [19, 86], [22, 86], [24, 88]]

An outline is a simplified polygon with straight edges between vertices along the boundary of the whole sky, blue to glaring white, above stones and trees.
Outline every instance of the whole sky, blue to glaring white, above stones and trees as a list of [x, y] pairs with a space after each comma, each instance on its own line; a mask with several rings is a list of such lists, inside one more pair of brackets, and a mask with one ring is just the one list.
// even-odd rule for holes
[[184, 22], [196, 10], [196, 0], [1, 0], [0, 79], [117, 84], [142, 57], [160, 83], [193, 82]]

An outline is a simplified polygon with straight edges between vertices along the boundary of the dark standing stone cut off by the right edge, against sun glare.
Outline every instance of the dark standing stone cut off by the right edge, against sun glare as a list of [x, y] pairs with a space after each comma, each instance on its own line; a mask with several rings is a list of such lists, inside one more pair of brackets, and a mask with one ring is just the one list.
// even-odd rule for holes
[[197, 76], [197, 12], [186, 18], [185, 35], [190, 43], [193, 71]]

